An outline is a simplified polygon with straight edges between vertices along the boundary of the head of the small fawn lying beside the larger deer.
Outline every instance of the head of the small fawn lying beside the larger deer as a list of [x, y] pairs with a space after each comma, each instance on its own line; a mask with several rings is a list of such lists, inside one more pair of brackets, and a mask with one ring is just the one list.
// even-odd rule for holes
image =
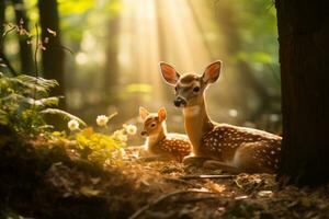
[[149, 113], [146, 108], [139, 107], [139, 116], [144, 120], [141, 136], [154, 136], [163, 130], [163, 123], [167, 117], [164, 107], [159, 108], [158, 113]]

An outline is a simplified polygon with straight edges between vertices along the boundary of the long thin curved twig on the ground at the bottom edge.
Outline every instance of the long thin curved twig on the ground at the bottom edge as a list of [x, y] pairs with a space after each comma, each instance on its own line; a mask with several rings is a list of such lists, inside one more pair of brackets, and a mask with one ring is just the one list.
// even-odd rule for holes
[[151, 208], [152, 206], [161, 203], [162, 200], [171, 197], [171, 196], [175, 196], [175, 195], [181, 195], [181, 194], [188, 194], [188, 193], [202, 193], [202, 194], [215, 194], [212, 192], [206, 192], [206, 191], [197, 191], [197, 189], [189, 189], [189, 191], [175, 191], [166, 195], [160, 196], [159, 198], [155, 199], [154, 201], [151, 201], [150, 204], [145, 205], [144, 207], [139, 208], [134, 215], [132, 215], [129, 217], [129, 219], [136, 219], [138, 218], [141, 214], [144, 214], [146, 210], [148, 210], [149, 208]]

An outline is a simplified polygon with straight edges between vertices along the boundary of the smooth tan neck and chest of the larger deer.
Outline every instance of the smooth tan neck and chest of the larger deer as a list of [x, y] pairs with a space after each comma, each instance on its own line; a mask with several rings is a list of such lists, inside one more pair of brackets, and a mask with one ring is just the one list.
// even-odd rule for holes
[[197, 154], [203, 135], [214, 127], [206, 108], [204, 99], [200, 105], [183, 108], [185, 130], [193, 146], [194, 154]]

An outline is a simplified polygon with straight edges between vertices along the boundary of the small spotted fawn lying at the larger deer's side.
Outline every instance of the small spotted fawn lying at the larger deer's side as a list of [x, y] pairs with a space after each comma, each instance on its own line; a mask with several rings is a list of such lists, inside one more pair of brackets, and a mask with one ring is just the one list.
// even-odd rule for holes
[[158, 113], [149, 113], [139, 107], [144, 120], [141, 136], [147, 137], [146, 150], [159, 160], [177, 160], [181, 162], [191, 152], [191, 143], [186, 135], [168, 134], [166, 126], [167, 113], [161, 107]]

